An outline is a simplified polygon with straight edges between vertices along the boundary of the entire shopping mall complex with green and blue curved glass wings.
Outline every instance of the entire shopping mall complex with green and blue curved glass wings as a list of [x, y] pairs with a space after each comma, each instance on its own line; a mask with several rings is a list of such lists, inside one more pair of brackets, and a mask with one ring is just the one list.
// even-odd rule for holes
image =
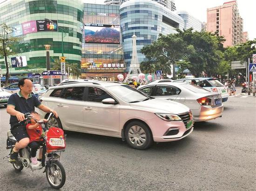
[[[28, 73], [31, 68], [46, 68], [44, 45], [51, 45], [51, 61], [59, 59], [64, 29], [66, 62], [79, 64], [82, 78], [113, 81], [129, 69], [134, 33], [141, 62], [145, 59], [140, 52], [144, 45], [150, 45], [160, 33], [173, 33], [176, 28], [189, 25], [182, 16], [152, 0], [129, 0], [121, 6], [88, 4], [82, 0], [6, 0], [0, 3], [0, 24], [14, 27], [11, 35], [20, 38], [15, 46], [17, 54], [10, 56], [7, 62], [12, 65], [15, 57], [17, 62], [20, 57], [23, 63], [27, 61], [27, 66], [11, 67], [12, 76]], [[193, 20], [191, 25], [200, 24]], [[1, 73], [5, 74], [3, 57], [0, 57], [0, 64]]]

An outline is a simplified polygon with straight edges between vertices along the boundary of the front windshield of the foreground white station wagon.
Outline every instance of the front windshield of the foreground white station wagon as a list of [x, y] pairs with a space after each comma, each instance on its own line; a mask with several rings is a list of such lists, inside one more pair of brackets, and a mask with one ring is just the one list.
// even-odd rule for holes
[[150, 99], [149, 96], [146, 96], [141, 91], [128, 85], [108, 86], [107, 89], [113, 92], [116, 96], [120, 97], [123, 101], [129, 103], [143, 102]]

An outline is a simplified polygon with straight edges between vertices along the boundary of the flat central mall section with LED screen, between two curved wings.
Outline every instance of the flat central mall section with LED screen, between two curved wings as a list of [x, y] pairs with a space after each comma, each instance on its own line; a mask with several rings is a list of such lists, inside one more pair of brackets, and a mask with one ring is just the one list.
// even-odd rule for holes
[[84, 4], [82, 78], [114, 81], [125, 70], [119, 6]]

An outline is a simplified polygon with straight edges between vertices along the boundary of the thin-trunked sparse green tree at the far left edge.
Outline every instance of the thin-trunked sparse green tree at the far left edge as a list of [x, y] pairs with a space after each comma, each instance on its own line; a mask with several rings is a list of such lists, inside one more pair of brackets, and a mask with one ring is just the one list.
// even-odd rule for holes
[[6, 66], [6, 81], [5, 86], [7, 86], [9, 81], [9, 67], [7, 63], [7, 57], [10, 55], [15, 55], [16, 53], [12, 50], [11, 47], [17, 43], [20, 38], [13, 37], [10, 34], [15, 31], [15, 28], [7, 26], [6, 23], [0, 25], [0, 56], [5, 58]]

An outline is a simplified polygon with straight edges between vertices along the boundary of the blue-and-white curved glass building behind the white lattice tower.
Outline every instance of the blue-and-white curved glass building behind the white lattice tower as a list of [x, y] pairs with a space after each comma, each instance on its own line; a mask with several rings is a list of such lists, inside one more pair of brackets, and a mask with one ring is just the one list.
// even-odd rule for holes
[[128, 0], [120, 6], [120, 25], [124, 60], [127, 70], [132, 57], [132, 36], [137, 36], [137, 53], [141, 63], [145, 56], [140, 52], [144, 45], [150, 45], [159, 34], [175, 33], [183, 29], [183, 19], [168, 8], [152, 0]]

